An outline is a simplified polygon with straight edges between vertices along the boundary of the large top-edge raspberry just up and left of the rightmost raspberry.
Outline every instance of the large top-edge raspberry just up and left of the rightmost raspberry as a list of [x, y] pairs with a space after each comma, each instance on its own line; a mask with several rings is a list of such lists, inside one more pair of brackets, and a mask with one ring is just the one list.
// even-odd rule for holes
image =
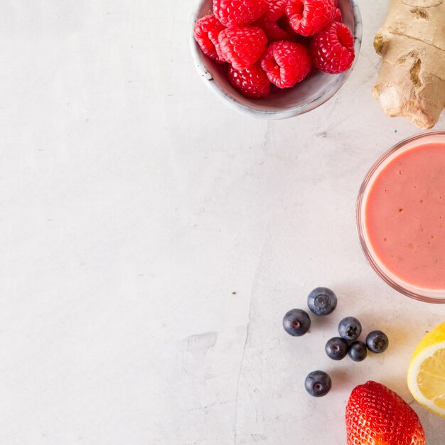
[[313, 36], [331, 23], [336, 13], [332, 0], [288, 0], [286, 16], [292, 29], [302, 36]]

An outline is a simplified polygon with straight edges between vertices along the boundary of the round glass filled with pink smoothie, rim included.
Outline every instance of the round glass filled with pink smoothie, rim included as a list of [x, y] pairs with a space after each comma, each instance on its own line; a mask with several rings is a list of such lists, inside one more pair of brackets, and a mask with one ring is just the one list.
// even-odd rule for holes
[[[397, 173], [406, 174], [400, 183]], [[380, 156], [360, 187], [355, 218], [365, 257], [387, 284], [420, 301], [445, 303], [445, 131], [409, 137]]]

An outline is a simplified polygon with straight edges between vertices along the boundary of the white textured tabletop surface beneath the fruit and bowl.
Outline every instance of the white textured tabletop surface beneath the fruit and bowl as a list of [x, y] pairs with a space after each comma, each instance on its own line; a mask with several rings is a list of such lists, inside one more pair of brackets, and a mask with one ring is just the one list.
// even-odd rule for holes
[[[205, 88], [193, 6], [2, 4], [1, 444], [344, 445], [354, 385], [410, 400], [410, 354], [445, 308], [383, 284], [354, 225], [372, 161], [417, 132], [370, 94], [387, 1], [360, 1], [338, 95], [283, 122]], [[336, 313], [286, 336], [282, 315], [315, 286], [338, 293]], [[346, 315], [390, 350], [325, 358]], [[303, 388], [315, 368], [334, 385], [318, 400]], [[413, 407], [441, 445], [445, 420]]]

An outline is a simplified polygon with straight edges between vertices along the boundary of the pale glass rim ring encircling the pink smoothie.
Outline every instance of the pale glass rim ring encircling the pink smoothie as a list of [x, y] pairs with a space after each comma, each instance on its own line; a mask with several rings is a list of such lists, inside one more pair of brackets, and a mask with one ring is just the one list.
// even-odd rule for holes
[[397, 142], [397, 144], [385, 151], [374, 163], [372, 163], [372, 166], [368, 170], [368, 173], [366, 173], [358, 191], [357, 201], [355, 204], [355, 228], [357, 230], [358, 240], [360, 242], [360, 247], [362, 248], [363, 254], [365, 254], [365, 258], [370, 263], [370, 266], [374, 272], [386, 284], [389, 284], [393, 289], [400, 292], [400, 294], [409, 296], [412, 299], [424, 301], [426, 303], [445, 304], [445, 289], [422, 289], [418, 286], [414, 286], [413, 284], [403, 282], [402, 279], [397, 279], [394, 274], [391, 274], [387, 269], [385, 269], [382, 262], [378, 261], [377, 255], [373, 254], [372, 247], [370, 243], [367, 242], [365, 235], [364, 208], [366, 198], [368, 196], [367, 193], [369, 191], [368, 186], [372, 185], [378, 173], [380, 173], [380, 167], [384, 166], [385, 161], [389, 162], [392, 161], [392, 159], [395, 159], [395, 154], [397, 152], [400, 151], [402, 153], [405, 150], [412, 149], [415, 146], [413, 146], [412, 143], [422, 140], [431, 140], [431, 136], [433, 138], [438, 136], [439, 138], [443, 138], [441, 140], [445, 141], [445, 130], [431, 130], [428, 132], [417, 133], [413, 136], [402, 139], [402, 141]]

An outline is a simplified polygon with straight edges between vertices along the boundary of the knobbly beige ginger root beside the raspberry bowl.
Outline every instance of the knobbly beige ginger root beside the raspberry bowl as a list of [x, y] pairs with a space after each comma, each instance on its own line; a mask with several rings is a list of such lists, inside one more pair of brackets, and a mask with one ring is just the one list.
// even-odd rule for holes
[[433, 127], [445, 107], [445, 0], [391, 0], [374, 48], [382, 68], [372, 95], [385, 113]]

